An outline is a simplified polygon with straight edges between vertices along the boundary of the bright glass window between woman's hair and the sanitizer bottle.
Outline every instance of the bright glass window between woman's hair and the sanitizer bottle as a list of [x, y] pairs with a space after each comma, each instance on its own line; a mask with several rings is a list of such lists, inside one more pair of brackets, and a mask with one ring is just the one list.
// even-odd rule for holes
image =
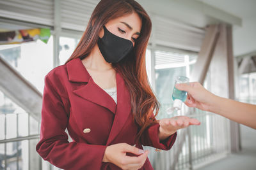
[[[188, 55], [181, 52], [170, 52], [162, 50], [152, 50], [156, 57], [155, 78], [156, 96], [161, 104], [158, 118], [170, 117], [166, 109], [172, 107], [172, 92], [175, 83], [175, 76], [189, 77], [195, 64], [196, 55]], [[152, 53], [151, 52], [151, 53]]]

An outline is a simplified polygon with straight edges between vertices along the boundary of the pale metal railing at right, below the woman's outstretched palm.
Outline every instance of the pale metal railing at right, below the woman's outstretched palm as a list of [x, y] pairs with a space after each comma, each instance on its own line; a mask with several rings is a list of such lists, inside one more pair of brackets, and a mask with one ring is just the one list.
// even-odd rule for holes
[[[230, 153], [229, 120], [206, 111], [185, 110], [186, 113], [193, 113], [186, 116], [197, 118], [201, 124], [179, 130], [169, 151], [156, 152], [146, 146], [150, 150], [148, 157], [154, 169], [197, 169]], [[184, 115], [184, 112], [178, 115]], [[176, 115], [169, 115], [173, 116]]]

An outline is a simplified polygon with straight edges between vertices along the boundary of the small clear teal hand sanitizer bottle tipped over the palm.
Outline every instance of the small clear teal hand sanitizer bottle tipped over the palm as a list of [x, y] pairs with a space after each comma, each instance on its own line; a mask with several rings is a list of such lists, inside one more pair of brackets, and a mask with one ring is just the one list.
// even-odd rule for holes
[[187, 99], [187, 92], [181, 91], [175, 88], [177, 83], [189, 83], [189, 78], [185, 76], [176, 76], [175, 77], [175, 84], [173, 88], [173, 106], [172, 108], [168, 108], [166, 111], [168, 114], [172, 114], [174, 111], [178, 111], [181, 109], [182, 102], [186, 101]]

